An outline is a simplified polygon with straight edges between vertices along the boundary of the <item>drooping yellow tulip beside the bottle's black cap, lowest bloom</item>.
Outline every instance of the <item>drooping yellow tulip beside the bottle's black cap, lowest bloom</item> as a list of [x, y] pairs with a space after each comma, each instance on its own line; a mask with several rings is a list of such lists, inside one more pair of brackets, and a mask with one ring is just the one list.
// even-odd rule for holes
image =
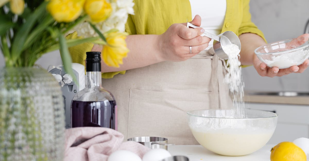
[[127, 56], [129, 49], [125, 42], [127, 33], [111, 32], [106, 34], [107, 45], [102, 50], [102, 58], [106, 65], [119, 67], [123, 64], [122, 59]]

